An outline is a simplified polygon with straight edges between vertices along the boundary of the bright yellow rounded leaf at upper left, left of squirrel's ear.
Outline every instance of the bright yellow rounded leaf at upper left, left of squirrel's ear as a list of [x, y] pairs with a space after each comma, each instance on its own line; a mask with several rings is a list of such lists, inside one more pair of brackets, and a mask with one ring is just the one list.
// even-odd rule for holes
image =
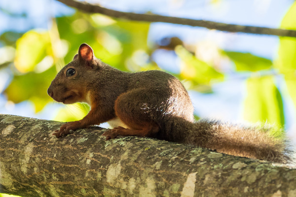
[[29, 31], [16, 42], [14, 65], [22, 73], [30, 72], [48, 54], [52, 54], [49, 33]]

